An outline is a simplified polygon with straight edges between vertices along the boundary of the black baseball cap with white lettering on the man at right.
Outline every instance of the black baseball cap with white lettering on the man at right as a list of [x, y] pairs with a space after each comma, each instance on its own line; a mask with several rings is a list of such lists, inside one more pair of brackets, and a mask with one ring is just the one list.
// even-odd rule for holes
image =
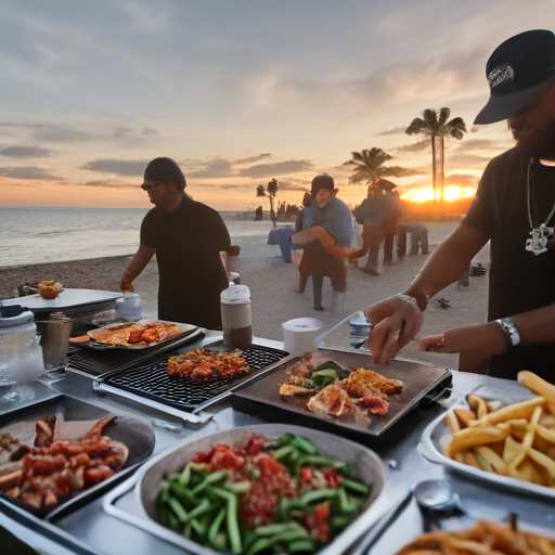
[[546, 92], [554, 76], [555, 35], [551, 30], [527, 30], [505, 40], [486, 64], [490, 100], [475, 125], [514, 116]]

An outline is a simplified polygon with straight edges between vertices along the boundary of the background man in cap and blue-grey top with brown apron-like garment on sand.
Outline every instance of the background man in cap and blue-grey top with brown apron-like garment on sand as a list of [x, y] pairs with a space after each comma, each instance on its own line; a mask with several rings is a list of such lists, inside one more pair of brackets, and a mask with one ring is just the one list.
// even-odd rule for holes
[[[311, 193], [313, 203], [310, 208], [312, 209], [313, 224], [323, 228], [327, 232], [328, 237], [335, 242], [335, 246], [350, 247], [354, 233], [353, 218], [349, 207], [337, 198], [337, 191], [333, 178], [327, 173], [319, 173], [312, 180]], [[328, 237], [326, 236], [327, 240]], [[334, 245], [332, 245], [331, 240], [326, 242], [326, 246], [328, 250], [334, 251]], [[315, 240], [305, 246], [299, 271], [301, 276], [312, 275], [314, 310], [323, 310], [322, 287], [324, 276], [332, 280], [332, 313], [339, 314], [345, 300], [345, 292], [347, 291], [345, 259], [330, 255], [322, 246], [322, 242]], [[301, 289], [304, 289], [302, 286], [299, 287], [299, 291], [302, 293]]]

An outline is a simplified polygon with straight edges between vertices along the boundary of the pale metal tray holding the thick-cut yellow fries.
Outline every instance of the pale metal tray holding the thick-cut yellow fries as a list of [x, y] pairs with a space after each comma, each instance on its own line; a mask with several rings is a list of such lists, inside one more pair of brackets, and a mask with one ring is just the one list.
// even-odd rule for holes
[[[518, 385], [521, 389], [515, 389], [516, 395], [511, 400], [504, 399], [503, 401], [506, 401], [506, 404], [525, 401], [533, 397], [533, 393], [529, 389], [527, 389], [525, 386], [521, 386], [520, 384]], [[468, 405], [459, 404], [453, 406], [451, 410], [453, 409], [468, 409]], [[426, 457], [441, 463], [442, 465], [457, 473], [515, 491], [519, 494], [540, 495], [542, 498], [548, 498], [555, 501], [555, 488], [539, 486], [538, 483], [531, 483], [525, 480], [519, 480], [517, 478], [512, 478], [509, 476], [501, 476], [500, 474], [487, 473], [480, 468], [475, 468], [474, 466], [469, 466], [467, 464], [457, 463], [456, 461], [446, 456], [441, 451], [440, 438], [443, 438], [441, 441], [446, 441], [444, 438], [450, 439], [452, 438], [452, 435], [451, 430], [446, 424], [444, 416], [444, 414], [438, 416], [426, 427], [424, 434], [422, 435], [423, 453]]]

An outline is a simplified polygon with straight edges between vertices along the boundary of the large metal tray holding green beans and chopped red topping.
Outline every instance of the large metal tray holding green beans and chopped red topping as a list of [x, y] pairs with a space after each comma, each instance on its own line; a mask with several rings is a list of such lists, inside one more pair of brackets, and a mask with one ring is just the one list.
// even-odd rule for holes
[[383, 499], [384, 487], [386, 485], [387, 473], [384, 463], [370, 449], [346, 440], [344, 438], [317, 431], [313, 429], [301, 428], [299, 426], [289, 426], [286, 424], [259, 424], [220, 431], [211, 436], [194, 440], [193, 437], [171, 447], [170, 449], [154, 456], [146, 463], [135, 476], [128, 480], [129, 486], [138, 481], [135, 486], [135, 495], [142, 509], [143, 517], [127, 515], [122, 511], [113, 506], [116, 493], [125, 493], [125, 485], [118, 488], [118, 491], [111, 493], [104, 502], [104, 511], [108, 514], [124, 518], [126, 521], [139, 526], [149, 532], [171, 542], [188, 552], [197, 555], [220, 555], [217, 552], [198, 545], [188, 540], [169, 528], [162, 525], [162, 521], [155, 512], [155, 502], [157, 496], [157, 483], [167, 474], [180, 470], [186, 462], [193, 459], [196, 451], [209, 450], [216, 443], [234, 443], [248, 434], [263, 434], [268, 439], [276, 439], [285, 433], [296, 434], [313, 441], [320, 453], [326, 456], [338, 457], [343, 461], [351, 462], [359, 477], [371, 486], [371, 494], [366, 502], [363, 513], [353, 520], [332, 543], [319, 552], [319, 555], [336, 555], [343, 553], [354, 540], [360, 537], [369, 527], [371, 527], [383, 515], [384, 507], [378, 500]]

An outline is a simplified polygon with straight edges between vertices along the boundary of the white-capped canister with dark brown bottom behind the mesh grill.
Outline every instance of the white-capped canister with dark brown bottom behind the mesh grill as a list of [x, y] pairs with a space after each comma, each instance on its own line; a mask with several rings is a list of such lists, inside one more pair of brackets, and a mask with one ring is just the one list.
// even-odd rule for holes
[[223, 345], [246, 349], [253, 345], [250, 292], [246, 285], [232, 285], [221, 292]]

